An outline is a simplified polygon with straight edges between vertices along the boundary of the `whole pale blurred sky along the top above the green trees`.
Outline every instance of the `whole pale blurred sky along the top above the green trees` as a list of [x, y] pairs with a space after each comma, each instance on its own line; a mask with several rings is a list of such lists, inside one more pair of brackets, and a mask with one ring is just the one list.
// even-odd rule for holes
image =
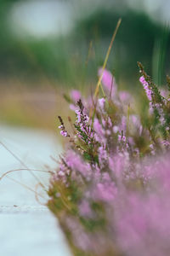
[[170, 21], [169, 0], [27, 0], [14, 3], [8, 23], [19, 36], [47, 38], [71, 31], [77, 17], [101, 6], [144, 10], [153, 20]]

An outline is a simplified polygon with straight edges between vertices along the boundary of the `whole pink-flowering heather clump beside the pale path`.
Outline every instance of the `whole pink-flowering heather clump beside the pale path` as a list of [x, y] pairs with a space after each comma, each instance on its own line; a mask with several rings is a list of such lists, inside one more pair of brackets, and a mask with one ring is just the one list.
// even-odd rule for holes
[[[75, 112], [59, 168], [51, 176], [49, 209], [59, 218], [75, 255], [168, 255], [170, 253], [170, 83], [164, 94], [139, 63], [147, 112], [118, 90], [99, 68], [99, 90], [65, 98]], [[167, 95], [167, 96], [166, 96]], [[162, 154], [165, 154], [162, 157]]]

